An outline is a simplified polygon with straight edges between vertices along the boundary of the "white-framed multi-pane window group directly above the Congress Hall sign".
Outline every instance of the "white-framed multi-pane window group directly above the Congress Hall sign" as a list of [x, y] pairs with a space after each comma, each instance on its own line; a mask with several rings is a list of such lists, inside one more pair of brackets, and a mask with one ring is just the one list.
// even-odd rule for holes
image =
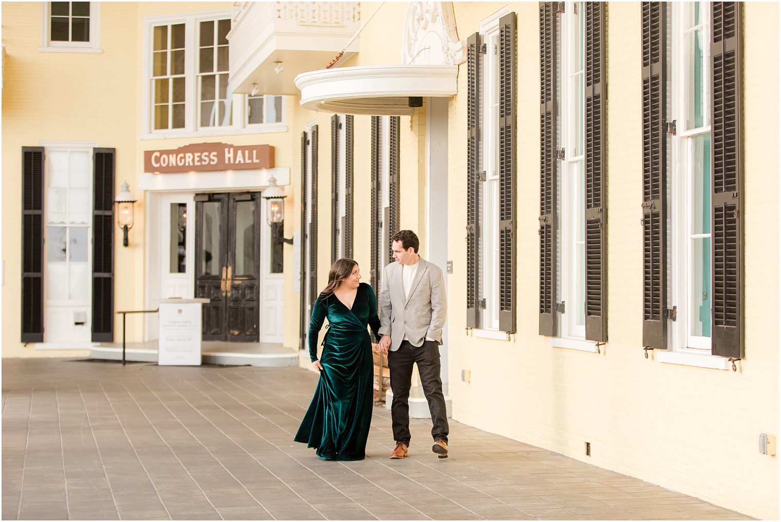
[[284, 97], [233, 95], [230, 12], [144, 20], [141, 139], [284, 132]]

